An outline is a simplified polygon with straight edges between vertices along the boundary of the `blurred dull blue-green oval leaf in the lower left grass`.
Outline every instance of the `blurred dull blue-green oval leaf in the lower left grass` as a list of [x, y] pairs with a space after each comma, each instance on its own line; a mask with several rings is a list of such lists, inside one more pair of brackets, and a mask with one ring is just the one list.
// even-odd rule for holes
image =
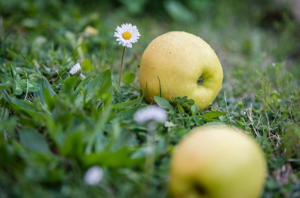
[[28, 149], [34, 150], [38, 153], [49, 154], [50, 149], [45, 140], [33, 129], [21, 129], [19, 131], [20, 141], [21, 143]]

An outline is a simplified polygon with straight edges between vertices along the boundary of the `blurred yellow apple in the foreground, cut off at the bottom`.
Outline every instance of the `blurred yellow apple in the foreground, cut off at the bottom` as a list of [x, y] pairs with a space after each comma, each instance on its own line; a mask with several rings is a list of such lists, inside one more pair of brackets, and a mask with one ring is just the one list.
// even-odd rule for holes
[[253, 138], [226, 125], [202, 126], [176, 147], [170, 165], [173, 197], [255, 198], [267, 165]]

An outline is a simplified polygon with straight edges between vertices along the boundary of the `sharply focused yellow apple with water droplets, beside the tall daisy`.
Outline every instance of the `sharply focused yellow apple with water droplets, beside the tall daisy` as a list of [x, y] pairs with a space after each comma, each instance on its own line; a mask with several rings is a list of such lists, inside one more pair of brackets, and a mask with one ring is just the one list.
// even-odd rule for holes
[[[168, 32], [158, 36], [142, 55], [139, 81], [145, 98], [155, 103], [153, 96], [171, 102], [175, 97], [187, 96], [205, 109], [220, 92], [223, 70], [214, 50], [203, 39], [186, 32]], [[203, 83], [197, 85], [202, 77]]]

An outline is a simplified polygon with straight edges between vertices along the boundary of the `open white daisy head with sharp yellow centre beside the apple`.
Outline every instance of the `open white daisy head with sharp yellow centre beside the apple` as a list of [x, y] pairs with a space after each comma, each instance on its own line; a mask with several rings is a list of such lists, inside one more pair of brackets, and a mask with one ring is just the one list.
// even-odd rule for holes
[[132, 48], [132, 43], [137, 42], [137, 39], [139, 39], [141, 35], [137, 26], [126, 23], [116, 28], [114, 36], [118, 37], [117, 41], [119, 41], [119, 45], [122, 43], [124, 47]]

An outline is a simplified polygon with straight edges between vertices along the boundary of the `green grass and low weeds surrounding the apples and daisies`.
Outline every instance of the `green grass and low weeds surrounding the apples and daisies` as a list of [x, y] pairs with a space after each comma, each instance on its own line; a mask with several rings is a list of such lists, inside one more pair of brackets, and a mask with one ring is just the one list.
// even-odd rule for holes
[[[0, 197], [140, 197], [145, 192], [166, 197], [174, 146], [208, 122], [256, 138], [268, 162], [263, 197], [300, 196], [300, 28], [289, 13], [268, 21], [262, 13], [278, 7], [251, 4], [249, 11], [243, 4], [205, 1], [206, 11], [204, 6], [185, 19], [168, 3], [167, 11], [158, 9], [156, 15], [155, 8], [135, 13], [106, 1], [86, 9], [61, 1], [26, 2], [0, 1]], [[257, 13], [248, 17], [243, 9]], [[137, 25], [142, 36], [126, 50], [119, 88], [123, 48], [113, 33], [124, 22]], [[88, 25], [99, 34], [78, 45]], [[168, 122], [158, 125], [155, 135], [151, 186], [145, 188], [147, 128], [132, 118], [148, 105], [138, 66], [149, 42], [173, 30], [211, 45], [223, 67], [223, 87], [205, 111], [182, 103], [183, 111], [176, 104], [167, 109]], [[70, 77], [76, 62], [95, 79], [94, 86], [83, 88], [79, 78]], [[104, 169], [97, 186], [82, 180], [91, 165]]]

